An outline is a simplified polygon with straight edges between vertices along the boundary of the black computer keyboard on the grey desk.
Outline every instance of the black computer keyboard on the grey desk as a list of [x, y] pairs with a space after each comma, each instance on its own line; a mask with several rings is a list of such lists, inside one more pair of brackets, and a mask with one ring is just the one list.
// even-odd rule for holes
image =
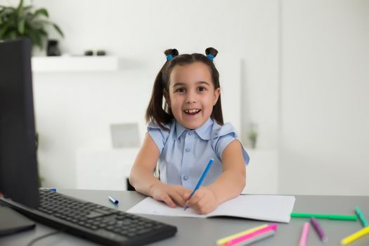
[[135, 214], [40, 190], [32, 214], [44, 224], [103, 245], [145, 245], [173, 236], [177, 228]]

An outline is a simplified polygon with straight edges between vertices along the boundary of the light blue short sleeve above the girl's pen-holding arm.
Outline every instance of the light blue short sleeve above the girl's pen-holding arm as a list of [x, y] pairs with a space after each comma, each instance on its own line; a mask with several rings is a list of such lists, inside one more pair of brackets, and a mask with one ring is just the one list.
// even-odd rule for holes
[[[214, 150], [219, 160], [221, 160], [223, 151], [226, 149], [229, 143], [235, 139], [238, 139], [238, 135], [235, 133], [233, 126], [229, 123], [224, 124], [220, 129], [214, 129], [213, 135]], [[242, 144], [241, 148], [243, 160], [245, 161], [245, 164], [249, 164], [250, 157], [245, 148], [243, 148]]]

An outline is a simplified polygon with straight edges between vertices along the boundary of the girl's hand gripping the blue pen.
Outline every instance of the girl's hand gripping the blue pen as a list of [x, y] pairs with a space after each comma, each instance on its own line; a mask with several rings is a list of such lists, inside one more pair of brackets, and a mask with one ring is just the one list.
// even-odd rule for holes
[[[190, 193], [186, 193], [184, 198], [188, 200]], [[206, 186], [201, 186], [190, 200], [187, 201], [188, 207], [195, 209], [198, 214], [208, 214], [218, 207], [219, 202], [216, 199], [214, 191]]]

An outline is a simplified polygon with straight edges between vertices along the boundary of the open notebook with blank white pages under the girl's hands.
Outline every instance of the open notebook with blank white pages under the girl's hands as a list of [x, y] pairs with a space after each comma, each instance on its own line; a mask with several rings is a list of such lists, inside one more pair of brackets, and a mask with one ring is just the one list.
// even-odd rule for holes
[[183, 207], [171, 208], [153, 198], [145, 198], [127, 212], [132, 214], [153, 214], [161, 216], [181, 216], [209, 218], [214, 216], [232, 216], [261, 221], [290, 222], [294, 206], [291, 195], [239, 195], [219, 205], [209, 214], [197, 214], [195, 210]]

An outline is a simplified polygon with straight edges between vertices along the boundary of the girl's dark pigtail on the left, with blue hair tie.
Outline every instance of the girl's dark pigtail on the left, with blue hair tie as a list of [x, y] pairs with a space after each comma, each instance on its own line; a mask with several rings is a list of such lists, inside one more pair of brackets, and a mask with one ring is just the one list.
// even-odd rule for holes
[[169, 48], [164, 51], [164, 54], [167, 56], [167, 62], [163, 65], [162, 69], [158, 72], [155, 78], [150, 103], [146, 109], [145, 119], [146, 122], [151, 121], [155, 124], [158, 124], [162, 129], [167, 129], [165, 124], [169, 124], [169, 122], [171, 122], [173, 115], [171, 115], [171, 109], [167, 103], [165, 103], [163, 109], [164, 91], [168, 90], [168, 82], [164, 81], [163, 79], [163, 70], [166, 69], [172, 58], [179, 55], [179, 52], [176, 50], [176, 48]]

